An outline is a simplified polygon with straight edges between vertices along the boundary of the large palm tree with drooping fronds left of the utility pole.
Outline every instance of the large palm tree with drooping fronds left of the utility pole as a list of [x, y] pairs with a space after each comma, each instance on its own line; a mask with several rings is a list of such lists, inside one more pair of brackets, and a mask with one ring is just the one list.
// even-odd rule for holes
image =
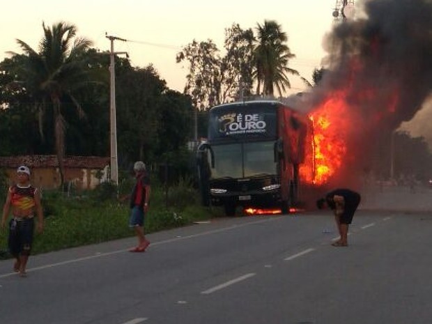
[[[40, 41], [38, 52], [22, 40], [17, 39], [17, 43], [26, 57], [22, 65], [26, 90], [42, 102], [39, 105], [40, 125], [46, 108], [45, 102], [51, 102], [53, 107], [55, 148], [63, 187], [66, 123], [62, 113], [62, 101], [71, 101], [79, 116], [84, 116], [82, 107], [72, 93], [88, 84], [88, 69], [83, 54], [92, 43], [86, 38], [75, 38], [77, 28], [73, 24], [58, 22], [53, 24], [52, 28], [45, 26], [45, 23], [42, 25], [44, 38]], [[42, 128], [40, 132], [43, 137]]]

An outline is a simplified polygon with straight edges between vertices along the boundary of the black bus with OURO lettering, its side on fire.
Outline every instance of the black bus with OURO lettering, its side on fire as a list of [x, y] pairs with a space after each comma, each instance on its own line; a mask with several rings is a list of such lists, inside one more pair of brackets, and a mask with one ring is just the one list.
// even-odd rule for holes
[[300, 202], [299, 168], [309, 119], [277, 101], [234, 102], [210, 109], [208, 140], [197, 151], [204, 205], [279, 208]]

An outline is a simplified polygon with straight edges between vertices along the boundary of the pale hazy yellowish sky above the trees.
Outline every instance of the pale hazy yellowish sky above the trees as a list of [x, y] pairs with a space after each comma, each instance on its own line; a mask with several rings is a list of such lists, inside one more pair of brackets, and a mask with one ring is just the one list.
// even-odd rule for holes
[[[332, 28], [335, 0], [21, 0], [3, 3], [0, 20], [0, 60], [5, 52], [19, 52], [16, 38], [33, 49], [48, 26], [64, 21], [75, 24], [78, 36], [93, 47], [109, 50], [105, 33], [131, 40], [114, 42], [116, 52], [128, 52], [132, 65], [153, 63], [170, 88], [183, 91], [187, 66], [176, 63], [176, 53], [192, 40], [212, 39], [223, 49], [224, 29], [233, 23], [255, 28], [264, 20], [276, 20], [288, 34], [288, 46], [296, 55], [289, 65], [311, 81], [314, 68], [325, 56], [322, 40]], [[6, 9], [6, 10], [5, 10]], [[162, 46], [149, 45], [148, 43]], [[290, 77], [292, 92], [302, 91], [298, 77]]]

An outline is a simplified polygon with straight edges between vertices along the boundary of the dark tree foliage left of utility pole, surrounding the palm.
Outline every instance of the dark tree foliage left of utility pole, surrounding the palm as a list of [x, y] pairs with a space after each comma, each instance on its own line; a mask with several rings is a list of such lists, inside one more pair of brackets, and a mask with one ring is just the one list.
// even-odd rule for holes
[[[86, 118], [76, 114], [75, 104], [63, 98], [62, 114], [67, 121], [65, 152], [68, 155], [108, 155], [109, 144], [109, 53], [89, 49], [83, 53], [90, 79], [73, 95]], [[27, 57], [14, 54], [0, 62], [0, 155], [52, 154], [54, 120], [52, 105], [37, 98], [21, 81]], [[43, 102], [40, 102], [43, 100]], [[45, 100], [45, 103], [44, 103]], [[70, 108], [70, 109], [69, 109]], [[89, 141], [88, 139], [98, 139]]]

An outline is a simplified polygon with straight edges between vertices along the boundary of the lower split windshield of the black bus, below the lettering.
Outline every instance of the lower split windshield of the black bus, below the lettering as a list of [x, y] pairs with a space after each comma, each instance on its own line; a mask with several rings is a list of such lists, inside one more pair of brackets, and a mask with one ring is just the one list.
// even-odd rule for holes
[[211, 178], [245, 178], [261, 174], [276, 174], [274, 146], [275, 141], [212, 146], [215, 168], [211, 171]]

